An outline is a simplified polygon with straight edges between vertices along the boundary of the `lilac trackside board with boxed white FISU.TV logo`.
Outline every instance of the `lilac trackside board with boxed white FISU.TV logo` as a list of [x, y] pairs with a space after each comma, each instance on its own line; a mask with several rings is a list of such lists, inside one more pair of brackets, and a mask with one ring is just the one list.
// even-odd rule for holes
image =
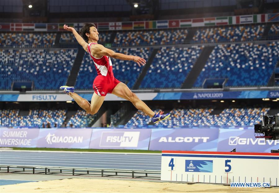
[[93, 129], [90, 149], [148, 150], [151, 129]]

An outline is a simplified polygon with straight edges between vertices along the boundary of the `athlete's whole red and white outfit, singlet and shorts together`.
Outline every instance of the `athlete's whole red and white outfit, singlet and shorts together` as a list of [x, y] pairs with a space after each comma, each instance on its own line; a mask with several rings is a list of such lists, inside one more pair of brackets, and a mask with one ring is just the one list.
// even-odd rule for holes
[[111, 93], [115, 86], [120, 82], [117, 80], [112, 72], [112, 63], [109, 56], [102, 56], [101, 58], [95, 58], [91, 55], [90, 47], [93, 44], [88, 44], [87, 50], [95, 64], [97, 70], [97, 77], [93, 82], [93, 89], [99, 96], [106, 96], [107, 93]]

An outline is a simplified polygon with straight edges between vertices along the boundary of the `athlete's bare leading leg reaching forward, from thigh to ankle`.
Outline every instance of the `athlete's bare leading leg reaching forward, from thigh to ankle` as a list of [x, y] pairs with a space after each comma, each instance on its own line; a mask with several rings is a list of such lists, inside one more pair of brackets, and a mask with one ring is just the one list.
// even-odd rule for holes
[[155, 112], [153, 112], [142, 100], [140, 100], [137, 95], [133, 93], [123, 82], [119, 82], [115, 86], [111, 94], [132, 102], [138, 110], [144, 112], [150, 117], [153, 117], [155, 115]]

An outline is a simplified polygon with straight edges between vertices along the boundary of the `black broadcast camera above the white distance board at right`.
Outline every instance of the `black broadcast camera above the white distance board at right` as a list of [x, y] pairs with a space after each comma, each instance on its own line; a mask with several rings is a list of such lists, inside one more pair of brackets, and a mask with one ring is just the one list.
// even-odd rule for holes
[[262, 125], [255, 124], [254, 129], [255, 133], [261, 133], [263, 136], [256, 136], [256, 138], [279, 139], [279, 116], [263, 115], [263, 113], [261, 113], [261, 117], [263, 118]]

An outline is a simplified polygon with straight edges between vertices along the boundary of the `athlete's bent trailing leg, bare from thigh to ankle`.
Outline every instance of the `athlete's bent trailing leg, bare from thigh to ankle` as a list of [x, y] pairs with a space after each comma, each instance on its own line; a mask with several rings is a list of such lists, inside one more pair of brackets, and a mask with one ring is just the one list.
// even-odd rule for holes
[[87, 113], [94, 115], [96, 114], [100, 107], [102, 106], [105, 97], [104, 96], [99, 96], [94, 92], [92, 98], [91, 98], [91, 104], [88, 102], [88, 100], [83, 99], [81, 96], [79, 96], [76, 93], [69, 93], [70, 97], [74, 99], [78, 105], [83, 108]]

